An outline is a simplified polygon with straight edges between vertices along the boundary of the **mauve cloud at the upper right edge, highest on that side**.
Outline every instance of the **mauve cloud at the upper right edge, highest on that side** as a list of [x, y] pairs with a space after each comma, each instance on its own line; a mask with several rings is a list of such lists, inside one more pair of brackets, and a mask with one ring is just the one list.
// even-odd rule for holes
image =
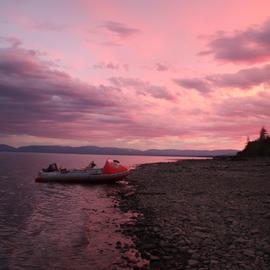
[[270, 60], [270, 20], [234, 34], [218, 34], [200, 55], [214, 55], [216, 60], [233, 63], [260, 63]]

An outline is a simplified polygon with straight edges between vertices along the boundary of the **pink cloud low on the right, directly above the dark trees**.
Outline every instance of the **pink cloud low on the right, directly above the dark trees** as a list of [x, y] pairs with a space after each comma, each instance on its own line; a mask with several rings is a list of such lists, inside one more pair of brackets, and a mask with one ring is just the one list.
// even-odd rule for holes
[[262, 126], [269, 127], [270, 95], [263, 91], [254, 96], [230, 97], [215, 101], [213, 113], [198, 132], [213, 138], [238, 141], [244, 145], [246, 136], [256, 138]]

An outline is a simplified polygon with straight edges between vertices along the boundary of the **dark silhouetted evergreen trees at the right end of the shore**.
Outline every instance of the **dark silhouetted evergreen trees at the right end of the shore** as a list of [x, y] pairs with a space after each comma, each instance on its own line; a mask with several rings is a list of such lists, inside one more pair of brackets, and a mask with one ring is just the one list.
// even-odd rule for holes
[[264, 127], [260, 131], [259, 138], [247, 142], [244, 150], [237, 153], [244, 157], [270, 157], [270, 137]]

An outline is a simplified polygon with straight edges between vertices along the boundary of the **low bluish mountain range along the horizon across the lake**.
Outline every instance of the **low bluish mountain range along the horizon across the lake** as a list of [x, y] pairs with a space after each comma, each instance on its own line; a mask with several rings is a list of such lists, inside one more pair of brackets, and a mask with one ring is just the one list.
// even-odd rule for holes
[[12, 147], [0, 144], [0, 152], [32, 152], [32, 153], [64, 153], [64, 154], [95, 154], [95, 155], [138, 155], [138, 156], [233, 156], [237, 150], [176, 150], [176, 149], [149, 149], [136, 150], [131, 148], [98, 147], [98, 146], [58, 146], [58, 145], [29, 145], [22, 147]]

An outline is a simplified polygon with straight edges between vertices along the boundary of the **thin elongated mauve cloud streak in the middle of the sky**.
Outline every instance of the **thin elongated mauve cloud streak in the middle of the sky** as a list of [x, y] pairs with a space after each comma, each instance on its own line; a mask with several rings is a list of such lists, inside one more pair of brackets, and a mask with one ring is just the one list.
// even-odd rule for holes
[[135, 89], [139, 95], [150, 95], [154, 98], [165, 100], [174, 100], [176, 98], [166, 87], [152, 85], [139, 79], [114, 77], [110, 78], [110, 82], [120, 88], [131, 87]]

